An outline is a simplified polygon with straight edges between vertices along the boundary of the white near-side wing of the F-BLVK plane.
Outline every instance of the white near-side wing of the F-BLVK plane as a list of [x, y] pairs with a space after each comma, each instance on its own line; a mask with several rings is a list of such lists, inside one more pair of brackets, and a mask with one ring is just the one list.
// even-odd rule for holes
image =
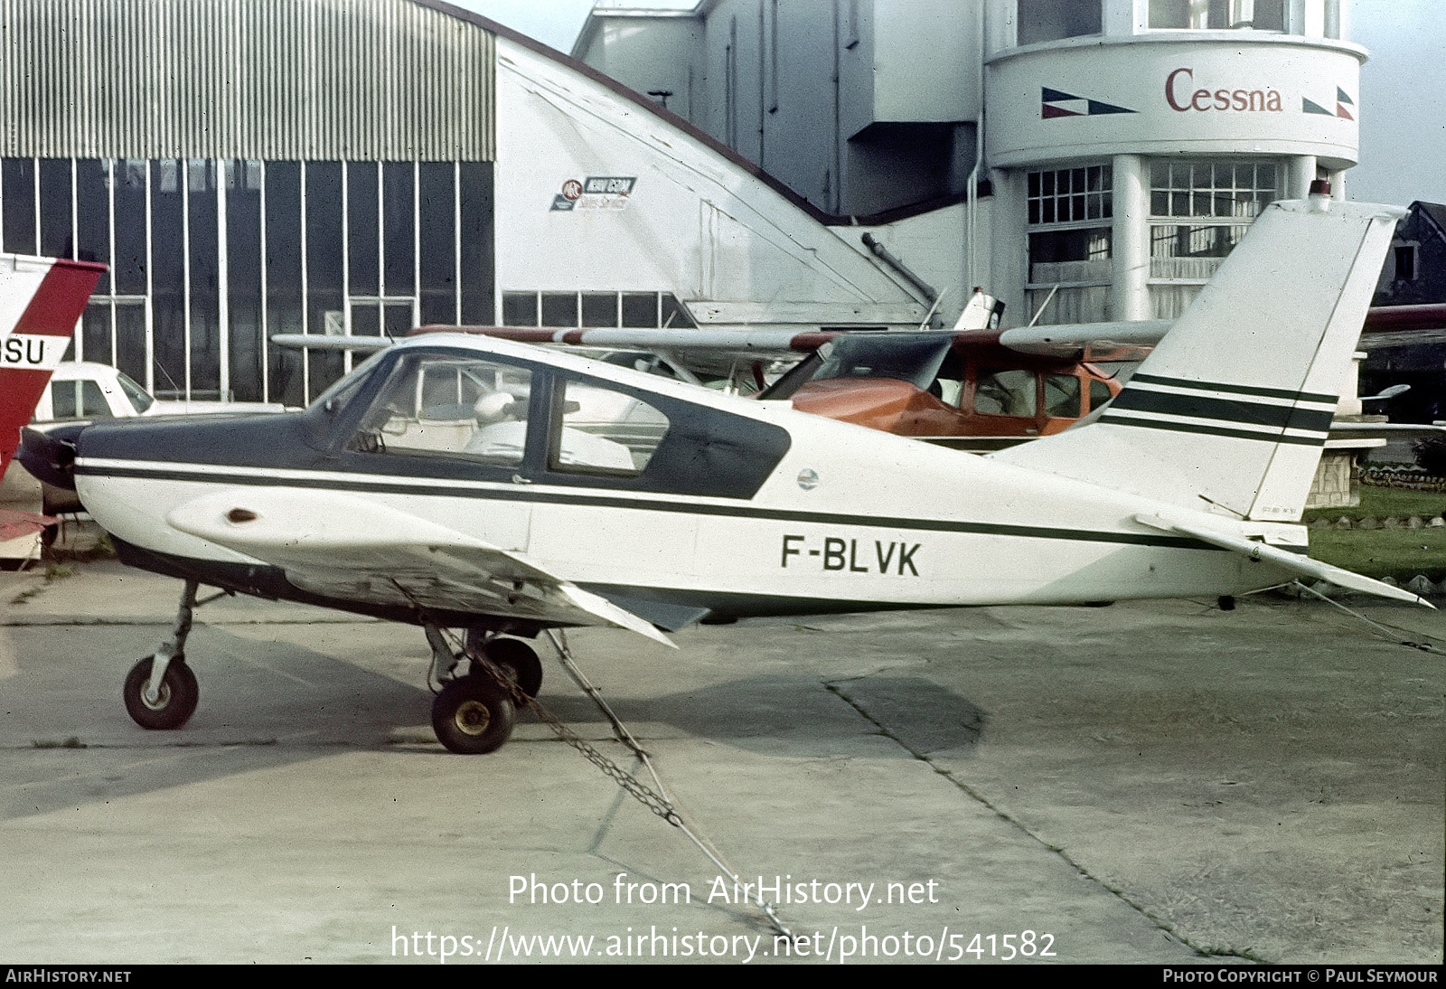
[[557, 625], [610, 625], [672, 642], [649, 622], [521, 552], [338, 492], [236, 487], [176, 506], [181, 532], [281, 567], [302, 590]]

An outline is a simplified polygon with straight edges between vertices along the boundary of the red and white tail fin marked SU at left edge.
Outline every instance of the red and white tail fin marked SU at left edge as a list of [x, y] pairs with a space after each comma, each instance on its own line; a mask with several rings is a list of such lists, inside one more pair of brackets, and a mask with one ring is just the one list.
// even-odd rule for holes
[[0, 254], [0, 476], [104, 272], [94, 262]]

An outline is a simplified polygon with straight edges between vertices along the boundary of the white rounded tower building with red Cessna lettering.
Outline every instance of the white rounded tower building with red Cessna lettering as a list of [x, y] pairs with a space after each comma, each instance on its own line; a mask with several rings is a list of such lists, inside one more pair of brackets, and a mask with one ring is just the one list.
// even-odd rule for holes
[[991, 283], [1015, 322], [1173, 318], [1267, 202], [1343, 194], [1365, 61], [1343, 0], [988, 3]]

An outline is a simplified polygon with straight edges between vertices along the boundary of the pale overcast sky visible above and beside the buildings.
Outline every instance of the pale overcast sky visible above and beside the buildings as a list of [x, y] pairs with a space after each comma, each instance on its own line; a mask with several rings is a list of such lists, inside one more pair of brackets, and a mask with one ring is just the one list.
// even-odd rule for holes
[[[591, 0], [450, 0], [562, 52]], [[1446, 202], [1446, 4], [1349, 0], [1351, 40], [1371, 52], [1361, 68], [1361, 163], [1346, 174], [1352, 200]], [[642, 4], [639, 4], [642, 6]]]

